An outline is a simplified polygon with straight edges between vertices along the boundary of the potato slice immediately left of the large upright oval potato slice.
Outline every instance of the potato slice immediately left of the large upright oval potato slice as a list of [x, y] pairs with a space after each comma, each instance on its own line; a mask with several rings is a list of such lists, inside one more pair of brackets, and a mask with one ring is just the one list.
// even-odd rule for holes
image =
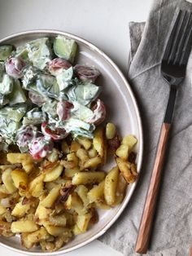
[[103, 182], [99, 183], [98, 186], [94, 186], [94, 188], [89, 190], [89, 192], [87, 193], [89, 203], [100, 201], [103, 198], [104, 186], [105, 186], [105, 181], [103, 180]]

